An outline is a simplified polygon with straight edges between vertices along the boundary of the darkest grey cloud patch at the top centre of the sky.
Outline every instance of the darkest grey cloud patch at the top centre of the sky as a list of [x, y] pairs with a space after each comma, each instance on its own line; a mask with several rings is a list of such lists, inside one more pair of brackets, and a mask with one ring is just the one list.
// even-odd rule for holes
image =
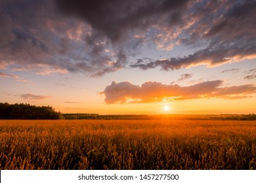
[[169, 23], [180, 21], [179, 10], [187, 0], [56, 0], [56, 6], [65, 15], [77, 16], [88, 22], [98, 34], [112, 42], [123, 41], [129, 31], [145, 30], [159, 24], [161, 16], [167, 15]]

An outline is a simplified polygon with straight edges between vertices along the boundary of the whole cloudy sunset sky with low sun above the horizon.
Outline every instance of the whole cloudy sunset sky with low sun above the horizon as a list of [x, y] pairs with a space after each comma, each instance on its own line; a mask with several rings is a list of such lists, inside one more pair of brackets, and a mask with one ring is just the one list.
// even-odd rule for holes
[[255, 0], [1, 0], [0, 102], [256, 112], [255, 10]]

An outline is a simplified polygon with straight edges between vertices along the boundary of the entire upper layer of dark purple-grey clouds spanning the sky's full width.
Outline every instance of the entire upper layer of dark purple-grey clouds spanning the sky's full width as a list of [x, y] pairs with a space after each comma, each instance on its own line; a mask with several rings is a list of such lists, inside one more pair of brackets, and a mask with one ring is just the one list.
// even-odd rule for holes
[[[256, 58], [256, 1], [3, 0], [0, 7], [0, 68], [14, 71], [97, 77]], [[192, 54], [144, 59], [148, 45]]]

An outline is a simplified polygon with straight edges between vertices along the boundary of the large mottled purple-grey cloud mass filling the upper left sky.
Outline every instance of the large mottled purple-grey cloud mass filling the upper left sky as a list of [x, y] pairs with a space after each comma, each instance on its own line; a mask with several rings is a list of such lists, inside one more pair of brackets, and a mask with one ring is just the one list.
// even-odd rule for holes
[[51, 0], [1, 1], [0, 25], [1, 68], [101, 76], [126, 65], [126, 52], [87, 22], [57, 12]]

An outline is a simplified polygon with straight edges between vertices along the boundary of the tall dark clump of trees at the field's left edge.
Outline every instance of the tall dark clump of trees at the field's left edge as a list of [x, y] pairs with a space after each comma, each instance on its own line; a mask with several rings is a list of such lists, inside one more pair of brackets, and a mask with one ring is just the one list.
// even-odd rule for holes
[[62, 113], [50, 106], [0, 103], [1, 120], [60, 120]]

